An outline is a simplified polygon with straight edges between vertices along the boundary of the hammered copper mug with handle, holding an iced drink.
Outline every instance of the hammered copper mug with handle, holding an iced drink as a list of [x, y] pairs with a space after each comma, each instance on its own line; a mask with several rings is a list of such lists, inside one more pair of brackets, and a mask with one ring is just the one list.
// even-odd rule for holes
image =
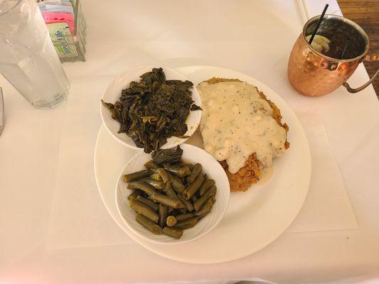
[[[316, 51], [306, 40], [316, 28], [320, 16], [305, 23], [303, 32], [292, 48], [288, 62], [288, 77], [297, 92], [310, 97], [329, 94], [343, 85], [348, 92], [356, 93], [367, 87], [379, 75], [379, 70], [370, 81], [356, 89], [351, 88], [346, 80], [353, 74], [363, 60], [378, 60], [378, 55], [366, 55], [368, 52], [368, 35], [357, 23], [336, 15], [325, 15], [316, 34], [331, 40], [329, 53]], [[346, 52], [339, 58], [344, 45]]]

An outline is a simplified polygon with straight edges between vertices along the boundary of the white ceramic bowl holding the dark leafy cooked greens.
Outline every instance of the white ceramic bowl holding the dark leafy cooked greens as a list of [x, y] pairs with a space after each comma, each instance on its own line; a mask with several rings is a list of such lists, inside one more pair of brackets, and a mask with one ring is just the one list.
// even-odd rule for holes
[[[123, 72], [122, 74], [118, 75], [114, 78], [114, 80], [110, 83], [110, 85], [105, 89], [104, 94], [102, 94], [102, 100], [104, 102], [110, 102], [114, 104], [119, 100], [119, 97], [121, 96], [122, 89], [125, 89], [128, 87], [129, 83], [132, 81], [139, 81], [139, 76], [144, 74], [145, 72], [151, 71], [153, 68], [158, 68], [159, 66], [137, 66], [132, 67], [128, 69], [127, 71]], [[179, 73], [178, 71], [168, 68], [168, 67], [161, 67], [164, 70], [164, 74], [166, 75], [167, 80], [181, 80], [185, 81], [188, 80], [187, 77]], [[193, 102], [195, 102], [199, 107], [201, 107], [201, 98], [198, 94], [198, 90], [196, 87], [193, 87], [192, 90], [192, 99]], [[112, 119], [110, 116], [110, 111], [106, 107], [102, 105], [100, 102], [100, 114], [102, 116], [102, 122], [105, 124], [105, 127], [108, 131], [112, 134], [114, 138], [116, 138], [118, 141], [123, 143], [125, 146], [128, 146], [129, 148], [134, 148], [137, 150], [141, 150], [142, 148], [138, 148], [132, 138], [127, 136], [126, 133], [118, 133], [119, 131], [119, 122]], [[190, 114], [187, 117], [186, 124], [188, 126], [188, 131], [184, 134], [186, 136], [192, 136], [192, 134], [196, 131], [198, 128], [198, 125], [200, 124], [201, 120], [201, 110], [197, 111], [190, 111]], [[162, 149], [168, 149], [173, 148], [175, 146], [180, 145], [181, 143], [184, 143], [188, 138], [178, 138], [178, 137], [171, 137], [167, 139], [167, 143], [164, 144], [164, 146], [161, 146]]]

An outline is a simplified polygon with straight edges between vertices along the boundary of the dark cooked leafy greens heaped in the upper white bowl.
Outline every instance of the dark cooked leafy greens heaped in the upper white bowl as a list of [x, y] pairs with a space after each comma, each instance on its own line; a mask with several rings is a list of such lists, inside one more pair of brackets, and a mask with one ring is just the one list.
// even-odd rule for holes
[[186, 119], [190, 111], [201, 110], [193, 103], [193, 83], [166, 80], [162, 68], [141, 75], [122, 90], [119, 102], [102, 102], [113, 119], [119, 121], [119, 133], [126, 133], [146, 153], [156, 151], [171, 136], [187, 137]]

